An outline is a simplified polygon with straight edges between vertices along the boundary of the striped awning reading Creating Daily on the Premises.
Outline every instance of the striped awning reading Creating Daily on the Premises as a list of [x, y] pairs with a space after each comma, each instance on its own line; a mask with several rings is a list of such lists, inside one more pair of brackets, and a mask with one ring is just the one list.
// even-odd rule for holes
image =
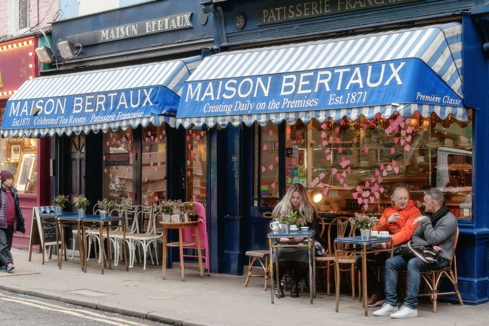
[[467, 120], [461, 23], [206, 57], [184, 83], [177, 124], [294, 124], [416, 111]]

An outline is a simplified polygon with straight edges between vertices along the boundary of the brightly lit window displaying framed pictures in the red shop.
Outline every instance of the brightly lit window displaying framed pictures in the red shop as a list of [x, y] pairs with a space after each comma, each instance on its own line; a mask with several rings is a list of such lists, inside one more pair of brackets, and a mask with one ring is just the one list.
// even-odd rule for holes
[[2, 138], [1, 170], [10, 170], [20, 193], [37, 193], [37, 139]]

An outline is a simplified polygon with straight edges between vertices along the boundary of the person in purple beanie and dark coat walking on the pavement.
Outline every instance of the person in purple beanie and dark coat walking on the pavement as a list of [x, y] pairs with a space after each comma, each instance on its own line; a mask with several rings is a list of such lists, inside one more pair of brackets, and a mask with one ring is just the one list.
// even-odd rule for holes
[[19, 206], [19, 196], [14, 185], [14, 175], [9, 170], [0, 171], [0, 271], [11, 272], [14, 260], [10, 249], [14, 233], [25, 233], [24, 218]]

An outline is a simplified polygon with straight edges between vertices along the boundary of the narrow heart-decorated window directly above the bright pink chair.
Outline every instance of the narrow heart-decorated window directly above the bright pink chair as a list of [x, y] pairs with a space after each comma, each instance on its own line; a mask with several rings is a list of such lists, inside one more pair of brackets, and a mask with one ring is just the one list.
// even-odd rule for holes
[[187, 201], [206, 204], [207, 137], [205, 131], [187, 130]]

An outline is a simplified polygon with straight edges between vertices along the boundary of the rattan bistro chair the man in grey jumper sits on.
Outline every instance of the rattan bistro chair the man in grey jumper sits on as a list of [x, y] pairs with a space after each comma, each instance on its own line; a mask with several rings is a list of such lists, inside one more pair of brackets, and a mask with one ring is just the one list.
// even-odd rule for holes
[[[462, 297], [460, 296], [460, 291], [458, 288], [458, 279], [457, 279], [457, 258], [455, 256], [455, 249], [457, 248], [458, 237], [459, 237], [459, 229], [457, 228], [457, 234], [455, 235], [455, 241], [453, 242], [452, 257], [445, 268], [432, 269], [421, 273], [422, 279], [424, 280], [424, 285], [426, 286], [427, 293], [420, 294], [420, 297], [430, 298], [431, 302], [433, 303], [433, 312], [436, 312], [438, 296], [441, 295], [456, 294], [460, 305], [464, 305], [464, 302], [462, 301]], [[443, 275], [445, 275], [446, 278], [452, 283], [454, 287], [454, 291], [438, 292], [438, 285]]]

